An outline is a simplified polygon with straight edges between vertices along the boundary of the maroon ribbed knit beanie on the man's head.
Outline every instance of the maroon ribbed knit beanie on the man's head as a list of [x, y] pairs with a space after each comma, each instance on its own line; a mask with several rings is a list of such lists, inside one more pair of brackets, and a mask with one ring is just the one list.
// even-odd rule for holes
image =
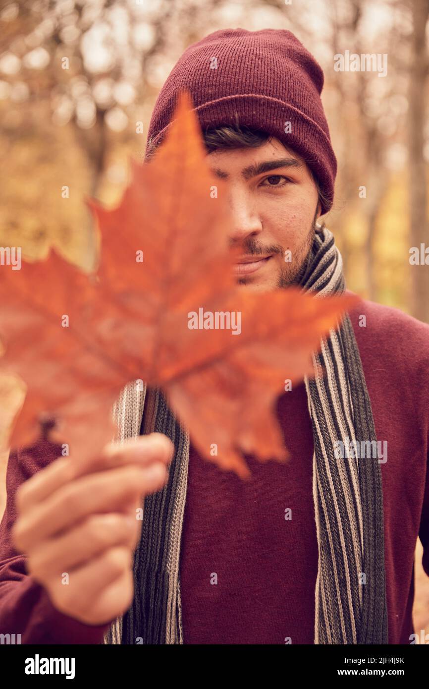
[[300, 154], [328, 199], [326, 213], [337, 161], [320, 100], [323, 82], [322, 68], [290, 31], [215, 31], [189, 45], [167, 77], [149, 123], [146, 158], [163, 140], [179, 92], [187, 90], [202, 131], [246, 125]]

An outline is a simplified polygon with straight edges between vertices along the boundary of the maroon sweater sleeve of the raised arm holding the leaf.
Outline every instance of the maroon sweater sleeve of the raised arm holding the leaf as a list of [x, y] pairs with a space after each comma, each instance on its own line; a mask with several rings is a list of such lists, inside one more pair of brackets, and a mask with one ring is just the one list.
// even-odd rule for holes
[[22, 644], [102, 644], [111, 622], [92, 626], [57, 610], [45, 588], [27, 573], [25, 555], [12, 545], [18, 486], [59, 455], [61, 447], [47, 440], [10, 453], [0, 523], [0, 634], [21, 634]]

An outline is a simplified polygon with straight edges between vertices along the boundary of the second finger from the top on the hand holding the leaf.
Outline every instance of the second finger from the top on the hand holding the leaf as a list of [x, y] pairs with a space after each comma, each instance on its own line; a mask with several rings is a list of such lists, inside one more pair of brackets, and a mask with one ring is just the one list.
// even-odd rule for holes
[[14, 544], [25, 552], [90, 514], [121, 511], [138, 495], [158, 491], [166, 477], [165, 464], [156, 462], [144, 468], [123, 466], [78, 478], [19, 517], [12, 526]]

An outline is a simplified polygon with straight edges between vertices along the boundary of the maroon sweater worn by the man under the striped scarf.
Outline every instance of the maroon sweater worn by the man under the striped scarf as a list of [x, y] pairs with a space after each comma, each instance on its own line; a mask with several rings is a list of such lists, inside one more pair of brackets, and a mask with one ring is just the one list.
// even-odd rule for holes
[[[358, 325], [361, 313], [366, 327]], [[388, 442], [380, 466], [389, 644], [409, 644], [418, 536], [429, 575], [429, 326], [368, 301], [350, 318], [377, 440]], [[285, 637], [313, 644], [318, 549], [304, 384], [282, 395], [278, 414], [291, 460], [252, 460], [248, 484], [191, 446], [180, 557], [185, 644], [284, 644]], [[46, 443], [10, 456], [0, 525], [0, 633], [21, 633], [27, 644], [100, 643], [109, 625], [87, 626], [56, 611], [10, 543], [14, 491], [55, 456]], [[284, 519], [286, 508], [291, 520]]]

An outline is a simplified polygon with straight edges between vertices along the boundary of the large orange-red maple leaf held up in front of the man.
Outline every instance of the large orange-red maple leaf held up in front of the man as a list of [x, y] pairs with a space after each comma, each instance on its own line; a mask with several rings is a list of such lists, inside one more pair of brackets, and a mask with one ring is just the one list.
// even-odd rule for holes
[[[61, 421], [52, 440], [76, 460], [92, 455], [112, 438], [119, 391], [141, 379], [163, 388], [196, 449], [222, 469], [249, 476], [243, 453], [286, 460], [275, 400], [285, 379], [313, 373], [312, 351], [357, 298], [236, 285], [226, 185], [209, 170], [191, 107], [182, 94], [154, 159], [132, 163], [118, 207], [89, 202], [101, 232], [96, 274], [55, 251], [19, 271], [1, 267], [3, 363], [28, 386], [12, 446], [34, 441], [45, 413]], [[240, 313], [240, 334], [190, 329], [200, 309]]]

